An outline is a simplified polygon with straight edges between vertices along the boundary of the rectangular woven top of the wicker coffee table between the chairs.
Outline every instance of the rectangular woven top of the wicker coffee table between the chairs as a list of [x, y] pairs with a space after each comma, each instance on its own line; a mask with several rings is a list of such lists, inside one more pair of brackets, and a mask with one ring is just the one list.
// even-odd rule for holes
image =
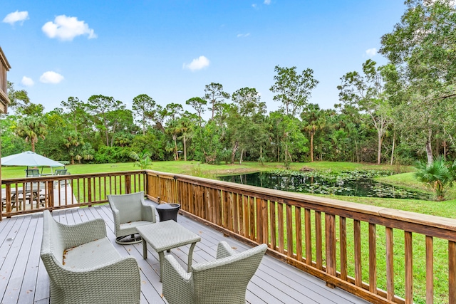
[[172, 220], [138, 226], [136, 229], [157, 252], [201, 241], [199, 235]]

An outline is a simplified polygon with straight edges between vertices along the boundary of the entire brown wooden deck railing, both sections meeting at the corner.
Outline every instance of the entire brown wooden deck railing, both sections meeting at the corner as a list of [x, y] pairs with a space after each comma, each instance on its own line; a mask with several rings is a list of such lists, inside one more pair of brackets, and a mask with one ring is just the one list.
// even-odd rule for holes
[[[226, 235], [266, 243], [271, 256], [372, 303], [456, 304], [454, 219], [150, 170], [1, 183], [0, 219], [144, 190]], [[26, 188], [39, 191], [12, 199]]]

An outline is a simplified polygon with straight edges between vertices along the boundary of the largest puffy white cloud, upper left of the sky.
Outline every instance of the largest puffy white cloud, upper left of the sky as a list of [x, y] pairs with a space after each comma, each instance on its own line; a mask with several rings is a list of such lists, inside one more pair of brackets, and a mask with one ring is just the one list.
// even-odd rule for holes
[[87, 35], [89, 39], [97, 38], [92, 28], [84, 21], [78, 21], [77, 17], [65, 15], [56, 16], [54, 22], [46, 22], [41, 28], [49, 38], [58, 38], [63, 41], [72, 41], [76, 36]]

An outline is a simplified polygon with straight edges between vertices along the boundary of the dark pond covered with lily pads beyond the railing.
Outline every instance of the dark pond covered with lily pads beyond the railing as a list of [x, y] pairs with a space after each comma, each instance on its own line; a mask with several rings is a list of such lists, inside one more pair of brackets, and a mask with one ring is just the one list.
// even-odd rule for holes
[[218, 177], [218, 179], [225, 182], [235, 182], [290, 192], [432, 200], [432, 195], [430, 194], [410, 191], [373, 180], [374, 177], [391, 174], [391, 172], [380, 170], [340, 172], [338, 174], [332, 172], [276, 170], [272, 172], [230, 175]]

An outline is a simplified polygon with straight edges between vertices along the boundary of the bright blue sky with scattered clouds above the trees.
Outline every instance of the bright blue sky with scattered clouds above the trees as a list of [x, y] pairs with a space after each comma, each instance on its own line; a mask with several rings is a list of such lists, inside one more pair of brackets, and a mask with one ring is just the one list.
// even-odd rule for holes
[[276, 65], [312, 68], [310, 103], [333, 108], [342, 75], [385, 63], [375, 50], [404, 11], [398, 0], [9, 0], [0, 46], [8, 80], [45, 112], [70, 96], [185, 105], [212, 82], [256, 88], [272, 111]]

